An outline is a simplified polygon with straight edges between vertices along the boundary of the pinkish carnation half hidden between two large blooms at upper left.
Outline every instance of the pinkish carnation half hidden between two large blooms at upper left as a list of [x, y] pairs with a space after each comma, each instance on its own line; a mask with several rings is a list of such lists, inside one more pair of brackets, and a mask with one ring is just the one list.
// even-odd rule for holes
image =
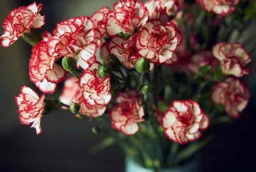
[[105, 22], [107, 20], [106, 17], [109, 11], [109, 7], [102, 7], [91, 15], [94, 27], [100, 30], [101, 35], [106, 33]]

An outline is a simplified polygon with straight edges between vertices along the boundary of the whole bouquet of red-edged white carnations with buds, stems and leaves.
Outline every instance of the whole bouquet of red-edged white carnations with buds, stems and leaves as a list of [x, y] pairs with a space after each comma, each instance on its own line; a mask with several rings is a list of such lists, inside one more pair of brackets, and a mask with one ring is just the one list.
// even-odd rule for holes
[[[22, 86], [15, 100], [20, 123], [37, 135], [46, 114], [70, 111], [98, 121], [92, 132], [106, 138], [92, 152], [117, 144], [134, 164], [159, 171], [194, 159], [213, 139], [200, 139], [203, 130], [248, 104], [240, 79], [251, 72], [254, 42], [244, 34], [255, 2], [120, 0], [40, 34], [41, 9], [12, 10], [0, 37], [2, 47], [19, 37], [32, 46], [30, 81], [42, 94]], [[62, 93], [47, 98], [58, 85]]]

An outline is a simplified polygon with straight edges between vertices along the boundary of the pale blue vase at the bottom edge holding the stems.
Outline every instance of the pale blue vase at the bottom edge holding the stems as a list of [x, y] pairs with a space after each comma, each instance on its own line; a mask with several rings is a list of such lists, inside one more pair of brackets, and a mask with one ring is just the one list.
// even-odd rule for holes
[[[148, 169], [138, 165], [130, 157], [126, 158], [126, 172], [155, 172], [153, 169]], [[170, 167], [159, 170], [158, 172], [201, 172], [200, 161], [198, 158], [194, 158], [181, 166]]]

